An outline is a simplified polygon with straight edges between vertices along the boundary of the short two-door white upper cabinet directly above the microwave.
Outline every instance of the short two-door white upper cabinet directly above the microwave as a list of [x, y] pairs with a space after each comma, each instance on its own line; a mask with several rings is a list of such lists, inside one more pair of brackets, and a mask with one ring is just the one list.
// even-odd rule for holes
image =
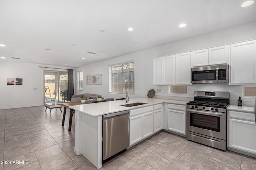
[[230, 45], [213, 47], [191, 52], [191, 65], [208, 66], [216, 64], [228, 64], [230, 58]]

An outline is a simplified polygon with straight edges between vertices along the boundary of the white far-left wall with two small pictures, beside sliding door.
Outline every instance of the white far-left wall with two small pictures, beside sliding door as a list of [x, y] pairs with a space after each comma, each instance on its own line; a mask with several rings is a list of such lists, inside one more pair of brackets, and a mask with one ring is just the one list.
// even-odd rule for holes
[[[44, 104], [44, 68], [40, 68], [39, 66], [66, 68], [42, 64], [0, 61], [0, 109], [42, 106]], [[23, 78], [23, 85], [6, 85], [7, 78]]]

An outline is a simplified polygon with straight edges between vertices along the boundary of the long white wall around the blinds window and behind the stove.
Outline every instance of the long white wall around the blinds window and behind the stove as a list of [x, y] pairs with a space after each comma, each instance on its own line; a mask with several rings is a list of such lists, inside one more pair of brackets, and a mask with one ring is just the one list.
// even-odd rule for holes
[[[171, 96], [168, 94], [168, 86], [153, 86], [153, 61], [156, 57], [194, 51], [208, 47], [236, 43], [256, 39], [256, 22], [250, 22], [242, 25], [236, 25], [226, 29], [221, 29], [204, 35], [183, 39], [174, 43], [161, 45], [151, 49], [130, 53], [120, 57], [88, 64], [76, 68], [76, 71], [83, 71], [83, 91], [76, 91], [76, 94], [92, 93], [100, 94], [104, 98], [124, 98], [124, 95], [110, 94], [108, 92], [108, 65], [122, 63], [134, 60], [135, 62], [135, 95], [130, 98], [144, 97], [150, 89], [160, 89], [158, 96]], [[103, 74], [102, 85], [86, 85], [86, 75]], [[185, 97], [193, 98], [194, 90], [212, 90], [212, 91], [229, 91], [232, 104], [236, 104], [238, 96], [242, 96], [241, 86], [228, 86], [227, 84], [196, 84], [188, 87], [188, 95]], [[182, 95], [180, 95], [182, 96]], [[243, 99], [243, 98], [242, 98]], [[244, 106], [252, 105], [251, 99], [244, 98]], [[248, 102], [246, 102], [248, 101]]]

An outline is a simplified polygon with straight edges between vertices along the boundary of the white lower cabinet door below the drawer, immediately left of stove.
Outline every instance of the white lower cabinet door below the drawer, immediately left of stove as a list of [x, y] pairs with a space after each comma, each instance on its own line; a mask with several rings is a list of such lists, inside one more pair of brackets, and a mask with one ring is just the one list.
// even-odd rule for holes
[[186, 111], [168, 109], [168, 130], [186, 135]]

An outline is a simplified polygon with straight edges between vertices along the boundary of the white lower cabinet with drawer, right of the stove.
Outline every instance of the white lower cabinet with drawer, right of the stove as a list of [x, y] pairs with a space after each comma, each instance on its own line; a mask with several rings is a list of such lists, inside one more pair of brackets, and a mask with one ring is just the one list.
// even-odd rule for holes
[[256, 154], [256, 125], [253, 113], [228, 111], [228, 149]]

